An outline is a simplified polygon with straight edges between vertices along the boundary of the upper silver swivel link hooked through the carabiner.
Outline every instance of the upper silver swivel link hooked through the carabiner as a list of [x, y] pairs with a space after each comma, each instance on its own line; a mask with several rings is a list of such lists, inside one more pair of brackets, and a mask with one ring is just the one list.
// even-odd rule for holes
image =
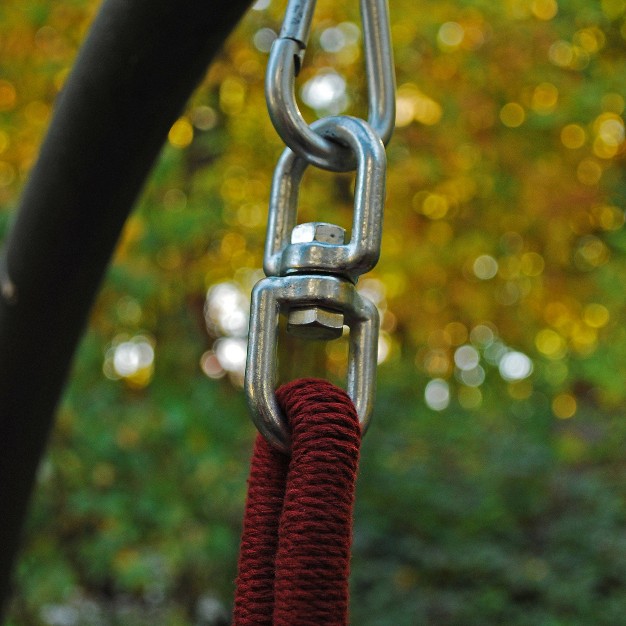
[[328, 272], [356, 282], [376, 265], [380, 255], [385, 198], [386, 155], [376, 133], [364, 120], [327, 117], [312, 128], [356, 155], [352, 233], [348, 243], [310, 238], [291, 239], [298, 213], [300, 181], [308, 163], [287, 148], [278, 161], [270, 193], [263, 269], [267, 276], [295, 272]]

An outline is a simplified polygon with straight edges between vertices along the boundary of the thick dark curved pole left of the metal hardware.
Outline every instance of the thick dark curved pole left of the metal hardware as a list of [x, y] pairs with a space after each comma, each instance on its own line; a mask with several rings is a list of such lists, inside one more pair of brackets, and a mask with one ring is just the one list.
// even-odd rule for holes
[[76, 344], [186, 99], [250, 0], [106, 0], [0, 257], [0, 600]]

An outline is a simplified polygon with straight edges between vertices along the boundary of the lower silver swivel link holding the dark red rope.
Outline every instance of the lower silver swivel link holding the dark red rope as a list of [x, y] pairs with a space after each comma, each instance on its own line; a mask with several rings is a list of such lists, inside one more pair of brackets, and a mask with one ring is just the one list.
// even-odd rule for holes
[[256, 427], [278, 450], [289, 453], [290, 435], [275, 388], [280, 313], [321, 306], [343, 312], [350, 328], [346, 391], [363, 433], [372, 414], [378, 355], [378, 311], [355, 286], [336, 276], [280, 276], [260, 280], [252, 291], [245, 390]]

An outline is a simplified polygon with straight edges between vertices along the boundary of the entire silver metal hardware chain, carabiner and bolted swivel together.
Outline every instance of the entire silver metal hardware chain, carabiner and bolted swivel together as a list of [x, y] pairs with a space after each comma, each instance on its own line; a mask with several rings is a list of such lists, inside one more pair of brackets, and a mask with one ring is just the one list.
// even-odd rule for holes
[[[374, 402], [378, 311], [356, 282], [380, 256], [387, 143], [395, 122], [395, 77], [387, 0], [361, 0], [369, 120], [320, 119], [310, 126], [295, 100], [298, 74], [315, 0], [290, 0], [274, 42], [265, 82], [270, 118], [287, 148], [272, 181], [263, 268], [252, 291], [245, 389], [252, 419], [265, 438], [288, 452], [289, 432], [274, 395], [278, 318], [308, 339], [335, 339], [350, 329], [347, 391], [363, 431]], [[350, 241], [335, 224], [297, 225], [300, 181], [309, 164], [331, 171], [356, 169]]]

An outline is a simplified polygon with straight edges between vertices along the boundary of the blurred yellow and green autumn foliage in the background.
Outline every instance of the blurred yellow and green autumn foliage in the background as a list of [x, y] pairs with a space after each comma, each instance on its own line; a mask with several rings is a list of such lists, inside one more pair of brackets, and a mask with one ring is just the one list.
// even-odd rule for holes
[[[363, 116], [358, 3], [318, 4], [302, 110]], [[626, 624], [626, 1], [391, 4], [352, 623]], [[126, 225], [40, 466], [9, 626], [228, 623], [284, 5], [258, 0], [229, 38]], [[0, 236], [98, 6], [0, 5]], [[352, 185], [309, 168], [300, 221], [349, 227]], [[343, 384], [344, 340], [280, 349], [283, 380]]]

